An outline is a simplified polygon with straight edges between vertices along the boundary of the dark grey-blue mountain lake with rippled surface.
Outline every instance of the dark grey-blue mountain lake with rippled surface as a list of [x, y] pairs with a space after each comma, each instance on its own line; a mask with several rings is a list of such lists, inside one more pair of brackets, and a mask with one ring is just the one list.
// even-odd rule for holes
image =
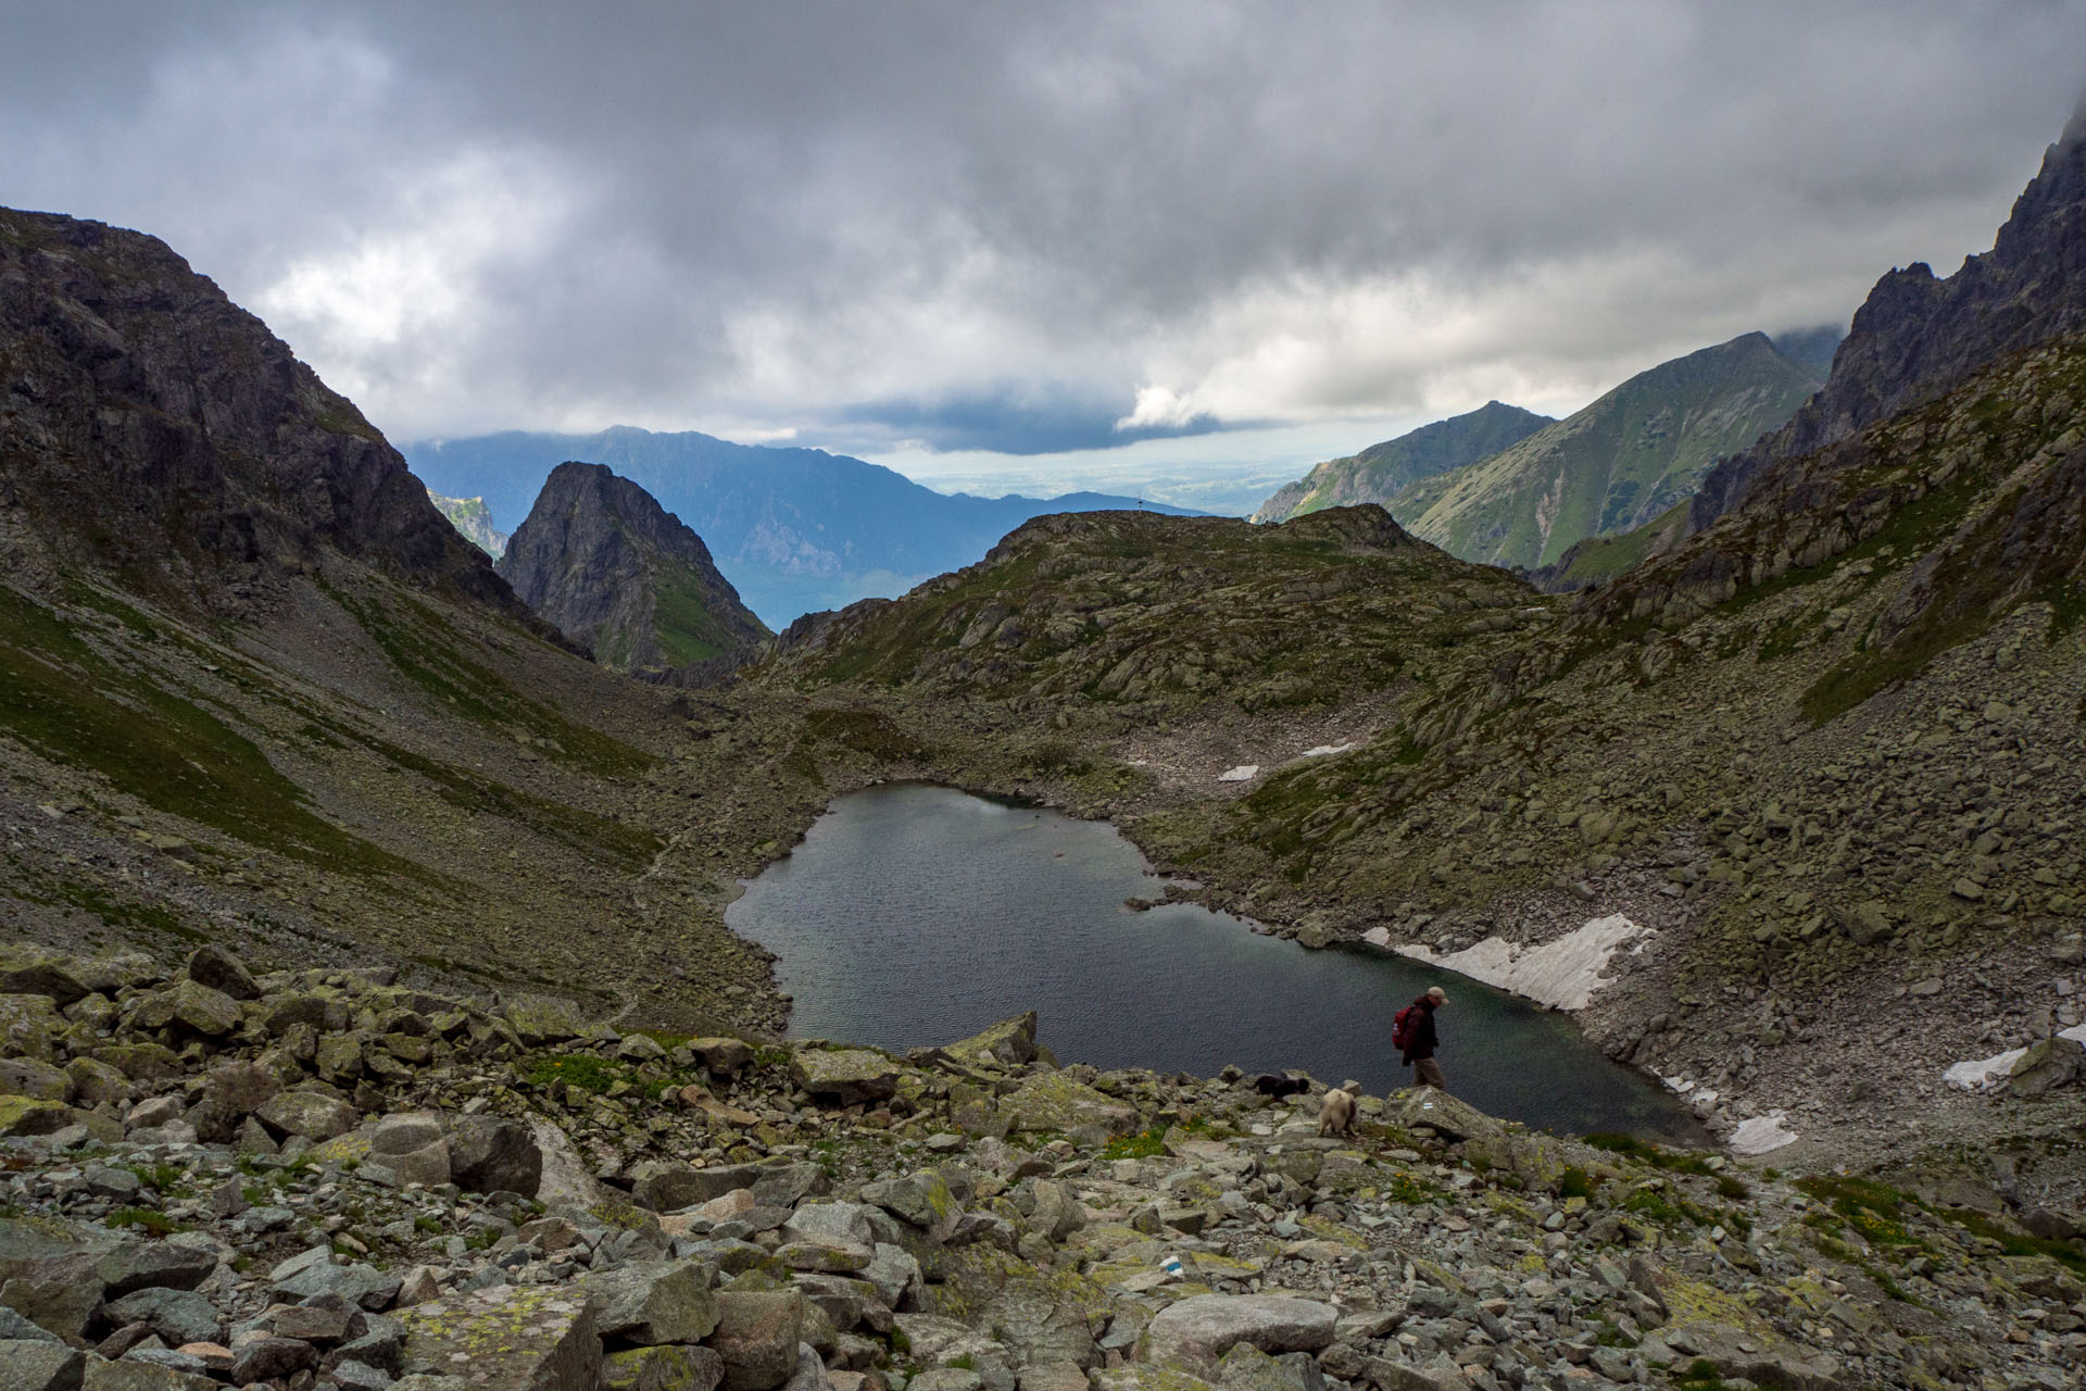
[[887, 784], [836, 799], [724, 918], [780, 957], [799, 1039], [903, 1051], [1037, 1009], [1068, 1064], [1304, 1068], [1381, 1095], [1412, 1078], [1391, 1016], [1441, 984], [1439, 1061], [1473, 1105], [1558, 1132], [1706, 1143], [1675, 1097], [1560, 1014], [1368, 947], [1306, 951], [1197, 905], [1122, 905], [1162, 890], [1103, 822]]

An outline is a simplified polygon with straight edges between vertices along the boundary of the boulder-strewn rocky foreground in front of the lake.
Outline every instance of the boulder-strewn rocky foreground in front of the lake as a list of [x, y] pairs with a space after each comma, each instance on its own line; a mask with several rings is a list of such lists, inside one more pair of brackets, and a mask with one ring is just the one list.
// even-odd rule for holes
[[[622, 1034], [217, 947], [0, 959], [0, 1385], [2069, 1387], [2073, 1216], [1433, 1091]], [[1337, 1391], [1337, 1387], [1335, 1387]]]

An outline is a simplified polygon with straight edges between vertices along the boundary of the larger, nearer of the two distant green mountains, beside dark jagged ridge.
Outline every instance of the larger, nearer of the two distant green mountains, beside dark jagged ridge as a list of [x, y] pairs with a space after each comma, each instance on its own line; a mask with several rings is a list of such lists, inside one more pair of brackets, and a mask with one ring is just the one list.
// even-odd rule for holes
[[1533, 569], [1587, 536], [1627, 532], [1685, 501], [1704, 471], [1790, 417], [1819, 386], [1765, 334], [1660, 363], [1498, 455], [1389, 501], [1414, 536]]

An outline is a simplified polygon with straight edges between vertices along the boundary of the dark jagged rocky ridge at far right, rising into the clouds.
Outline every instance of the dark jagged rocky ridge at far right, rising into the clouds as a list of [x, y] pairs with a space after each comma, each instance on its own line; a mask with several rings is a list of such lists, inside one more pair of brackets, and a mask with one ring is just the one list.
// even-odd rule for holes
[[1992, 250], [1948, 279], [1923, 263], [1890, 271], [1854, 313], [1825, 388], [1781, 430], [1702, 480], [1688, 511], [1702, 530], [1773, 463], [1844, 440], [1934, 400], [1978, 369], [2086, 332], [2086, 106], [2042, 156]]

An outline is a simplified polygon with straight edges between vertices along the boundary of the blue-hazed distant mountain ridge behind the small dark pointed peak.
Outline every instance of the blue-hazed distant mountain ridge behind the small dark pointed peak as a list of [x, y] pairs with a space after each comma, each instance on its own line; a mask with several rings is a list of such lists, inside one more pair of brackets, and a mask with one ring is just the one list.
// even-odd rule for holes
[[[945, 494], [847, 455], [630, 425], [428, 440], [407, 444], [405, 455], [430, 488], [482, 496], [494, 517], [526, 515], [544, 478], [567, 459], [607, 465], [701, 534], [718, 569], [772, 628], [962, 569], [1030, 517], [1137, 507], [1099, 492]], [[1158, 503], [1147, 511], [1193, 515]]]

